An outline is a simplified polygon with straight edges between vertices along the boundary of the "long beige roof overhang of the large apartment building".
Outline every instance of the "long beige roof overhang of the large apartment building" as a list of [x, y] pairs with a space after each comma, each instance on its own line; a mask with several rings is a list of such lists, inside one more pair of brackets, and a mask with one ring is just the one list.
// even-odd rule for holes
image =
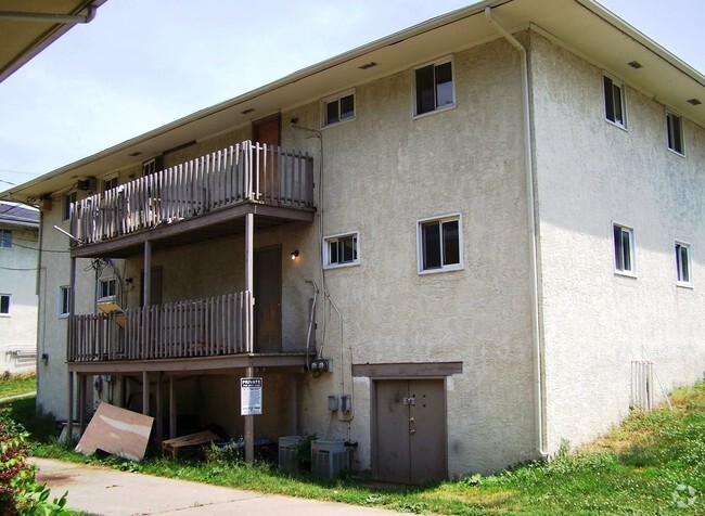
[[[198, 141], [293, 109], [356, 85], [499, 37], [484, 11], [511, 33], [529, 27], [695, 124], [705, 127], [705, 77], [592, 0], [486, 0], [438, 16], [196, 112], [103, 152], [0, 193], [34, 202], [80, 178], [133, 165], [184, 142]], [[637, 61], [642, 67], [632, 68]], [[375, 63], [374, 66], [367, 66]], [[702, 105], [691, 105], [698, 99]], [[136, 157], [139, 156], [139, 157]]]

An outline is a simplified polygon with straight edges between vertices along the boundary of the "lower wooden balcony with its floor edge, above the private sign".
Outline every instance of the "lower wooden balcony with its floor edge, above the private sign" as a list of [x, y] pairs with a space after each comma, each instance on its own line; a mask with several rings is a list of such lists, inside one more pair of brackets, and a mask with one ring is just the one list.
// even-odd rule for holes
[[305, 350], [258, 353], [253, 297], [247, 291], [126, 310], [110, 304], [101, 308], [105, 313], [74, 315], [70, 320], [67, 360], [74, 371], [306, 363]]

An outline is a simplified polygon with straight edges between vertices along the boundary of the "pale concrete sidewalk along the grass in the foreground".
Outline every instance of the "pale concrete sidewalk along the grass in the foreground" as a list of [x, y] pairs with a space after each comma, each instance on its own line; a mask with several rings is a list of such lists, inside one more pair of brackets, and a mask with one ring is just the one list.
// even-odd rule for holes
[[389, 516], [398, 514], [381, 508], [238, 491], [48, 459], [31, 459], [30, 462], [37, 466], [37, 479], [46, 482], [51, 489], [52, 498], [59, 498], [68, 491], [69, 508], [94, 515]]

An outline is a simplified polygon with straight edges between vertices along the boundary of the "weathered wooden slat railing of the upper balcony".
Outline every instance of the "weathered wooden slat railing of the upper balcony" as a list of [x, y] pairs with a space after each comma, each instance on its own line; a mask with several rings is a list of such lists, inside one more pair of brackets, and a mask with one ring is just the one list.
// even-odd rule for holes
[[92, 244], [247, 202], [312, 208], [313, 159], [238, 143], [74, 203], [70, 230]]

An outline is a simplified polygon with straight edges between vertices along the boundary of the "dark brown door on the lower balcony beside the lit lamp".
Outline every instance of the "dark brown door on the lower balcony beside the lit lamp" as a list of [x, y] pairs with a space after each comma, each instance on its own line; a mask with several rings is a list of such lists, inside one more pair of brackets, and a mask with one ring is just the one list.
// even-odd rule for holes
[[282, 248], [255, 250], [255, 352], [282, 351]]

